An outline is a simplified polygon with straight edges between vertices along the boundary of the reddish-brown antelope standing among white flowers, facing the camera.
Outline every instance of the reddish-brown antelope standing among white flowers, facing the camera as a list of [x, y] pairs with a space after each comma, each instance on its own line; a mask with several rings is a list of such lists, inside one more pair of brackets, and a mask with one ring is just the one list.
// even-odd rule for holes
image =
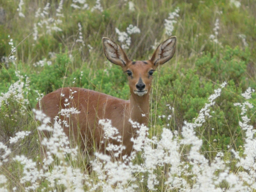
[[[167, 41], [168, 44], [164, 44]], [[91, 153], [93, 147], [96, 147], [96, 150], [101, 152], [105, 151], [106, 143], [101, 142], [105, 142], [103, 130], [98, 122], [100, 119], [111, 120], [112, 126], [116, 127], [122, 136], [122, 144], [126, 146], [122, 156], [129, 156], [133, 148], [131, 138], [136, 137], [136, 133], [128, 120], [131, 119], [145, 125], [148, 123], [149, 93], [152, 82], [152, 76], [149, 75], [149, 71], [155, 70], [158, 64], [164, 64], [164, 62], [170, 60], [175, 52], [176, 37], [171, 37], [165, 42], [158, 46], [151, 60], [132, 62], [118, 44], [108, 38], [103, 38], [104, 53], [108, 60], [121, 66], [124, 72], [127, 70], [132, 72], [132, 75], [128, 76], [131, 93], [130, 100], [122, 100], [93, 90], [66, 87], [44, 96], [40, 104], [37, 104], [37, 108], [41, 108], [52, 120], [55, 116], [59, 116], [61, 109], [76, 108], [80, 113], [70, 115], [70, 118], [65, 118], [69, 127], [64, 126], [64, 132], [70, 137], [70, 140], [76, 141], [80, 139], [82, 149]], [[172, 43], [171, 46], [169, 46], [170, 43]], [[170, 52], [170, 54], [166, 56], [166, 52]], [[142, 96], [136, 94], [136, 91], [138, 91], [136, 84], [138, 84], [139, 78], [142, 78], [145, 84], [144, 90], [147, 90], [146, 94]], [[71, 95], [71, 92], [75, 93]], [[70, 96], [73, 96], [73, 98], [70, 99]], [[69, 106], [64, 105], [66, 104], [66, 99], [70, 103]], [[60, 116], [60, 119], [64, 120], [64, 117]], [[47, 132], [44, 132], [44, 134], [48, 135]], [[118, 144], [116, 141], [110, 142]]]

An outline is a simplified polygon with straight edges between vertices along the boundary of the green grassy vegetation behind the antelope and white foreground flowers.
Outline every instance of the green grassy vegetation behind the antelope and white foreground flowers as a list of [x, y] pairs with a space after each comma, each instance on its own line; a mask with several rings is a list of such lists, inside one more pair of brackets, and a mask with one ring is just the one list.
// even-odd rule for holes
[[[32, 109], [41, 94], [61, 87], [129, 99], [126, 75], [106, 60], [102, 37], [127, 46], [131, 60], [147, 60], [175, 35], [174, 58], [154, 73], [149, 137], [160, 137], [163, 127], [180, 134], [184, 121], [194, 122], [208, 97], [226, 82], [212, 118], [195, 132], [209, 162], [219, 151], [232, 162], [230, 149], [242, 154], [245, 137], [234, 103], [244, 102], [241, 93], [256, 87], [255, 10], [255, 0], [0, 0], [0, 142], [36, 161], [40, 144]], [[139, 31], [129, 32], [129, 26]], [[15, 82], [21, 95], [17, 88], [7, 98]], [[255, 98], [252, 94], [253, 105]], [[255, 127], [255, 112], [247, 115]], [[19, 131], [31, 134], [11, 144]], [[20, 164], [10, 162], [0, 173], [10, 180], [8, 191], [24, 189]]]

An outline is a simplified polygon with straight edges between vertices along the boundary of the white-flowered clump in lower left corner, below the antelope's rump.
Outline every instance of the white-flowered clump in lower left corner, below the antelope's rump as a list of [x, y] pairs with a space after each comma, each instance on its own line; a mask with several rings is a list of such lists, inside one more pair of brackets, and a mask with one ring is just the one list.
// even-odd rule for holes
[[[62, 126], [55, 122], [53, 126], [48, 126], [49, 118], [42, 114], [41, 111], [34, 110], [35, 118], [41, 122], [38, 126], [38, 131], [47, 130], [52, 132], [50, 138], [42, 139], [42, 146], [46, 146], [46, 156], [42, 161], [43, 166], [38, 168], [37, 162], [27, 158], [24, 155], [16, 155], [12, 158], [14, 162], [19, 162], [22, 165], [22, 174], [19, 178], [19, 185], [23, 191], [35, 191], [49, 189], [65, 188], [66, 191], [83, 191], [83, 182], [88, 176], [81, 172], [80, 169], [74, 168], [71, 164], [67, 164], [65, 158], [70, 162], [76, 160], [77, 148], [70, 148], [69, 139], [63, 132]], [[16, 142], [18, 138], [23, 138], [29, 134], [28, 132], [20, 132], [16, 134], [16, 138], [11, 138], [10, 141]], [[10, 161], [9, 156], [11, 151], [4, 145], [0, 149], [4, 151], [1, 153], [3, 162]], [[1, 163], [1, 162], [0, 162]], [[50, 168], [51, 167], [51, 168]], [[42, 188], [39, 180], [44, 180], [47, 187]], [[7, 183], [2, 180], [2, 183]]]

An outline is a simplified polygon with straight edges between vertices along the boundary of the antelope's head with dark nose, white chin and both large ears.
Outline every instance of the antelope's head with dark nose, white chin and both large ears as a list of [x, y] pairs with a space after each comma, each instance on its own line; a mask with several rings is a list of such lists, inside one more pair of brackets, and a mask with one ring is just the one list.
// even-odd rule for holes
[[128, 75], [130, 92], [132, 95], [144, 96], [150, 92], [152, 75], [158, 65], [170, 60], [176, 48], [176, 36], [162, 42], [155, 50], [150, 60], [131, 61], [124, 50], [109, 38], [102, 38], [104, 54], [106, 58], [122, 67]]

